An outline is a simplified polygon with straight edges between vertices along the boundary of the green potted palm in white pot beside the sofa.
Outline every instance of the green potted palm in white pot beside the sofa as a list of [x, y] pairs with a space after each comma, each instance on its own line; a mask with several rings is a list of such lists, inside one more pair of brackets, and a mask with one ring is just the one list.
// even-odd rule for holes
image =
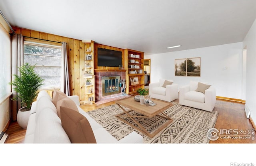
[[35, 65], [25, 63], [18, 67], [20, 75], [14, 74], [14, 79], [9, 83], [17, 92], [16, 96], [12, 97], [14, 101], [20, 101], [21, 109], [17, 114], [17, 122], [22, 128], [27, 128], [28, 118], [32, 102], [38, 95], [38, 90], [43, 85], [43, 79], [34, 71]]

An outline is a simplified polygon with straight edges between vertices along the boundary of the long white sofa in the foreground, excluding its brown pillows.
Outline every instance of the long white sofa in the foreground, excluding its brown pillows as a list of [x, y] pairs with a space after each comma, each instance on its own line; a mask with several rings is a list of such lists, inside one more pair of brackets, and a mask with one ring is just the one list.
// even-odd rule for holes
[[[79, 107], [78, 96], [69, 96], [69, 98], [74, 101], [79, 113], [84, 115], [90, 123], [96, 143], [143, 143], [142, 136], [136, 132], [130, 133], [119, 141], [116, 140]], [[32, 103], [30, 112], [24, 143], [71, 143], [62, 127], [52, 98], [46, 91], [40, 91], [37, 100]]]

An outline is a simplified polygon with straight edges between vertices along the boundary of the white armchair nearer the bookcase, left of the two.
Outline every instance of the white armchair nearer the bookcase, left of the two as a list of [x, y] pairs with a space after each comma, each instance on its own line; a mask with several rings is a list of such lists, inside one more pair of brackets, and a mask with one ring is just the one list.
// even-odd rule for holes
[[[165, 81], [172, 82], [171, 85], [164, 85]], [[167, 82], [166, 82], [167, 83]], [[168, 84], [168, 83], [167, 83]], [[164, 86], [163, 86], [164, 85]], [[149, 84], [149, 95], [152, 98], [164, 101], [174, 101], [178, 99], [178, 84], [173, 83], [173, 80], [160, 79], [157, 83]]]

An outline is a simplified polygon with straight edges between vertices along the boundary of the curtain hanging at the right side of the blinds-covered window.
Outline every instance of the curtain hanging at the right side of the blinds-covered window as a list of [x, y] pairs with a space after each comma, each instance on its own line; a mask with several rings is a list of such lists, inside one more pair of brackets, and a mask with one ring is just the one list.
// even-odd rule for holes
[[68, 76], [68, 55], [66, 42], [62, 43], [62, 59], [61, 59], [61, 77], [60, 77], [60, 91], [64, 92], [67, 96], [70, 96], [69, 90], [69, 76]]

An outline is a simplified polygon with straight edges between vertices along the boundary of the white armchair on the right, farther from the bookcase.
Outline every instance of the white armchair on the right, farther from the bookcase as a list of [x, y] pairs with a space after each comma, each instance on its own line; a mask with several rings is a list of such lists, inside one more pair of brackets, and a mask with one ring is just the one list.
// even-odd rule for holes
[[[199, 87], [199, 89], [200, 88], [201, 86]], [[185, 105], [188, 107], [212, 112], [216, 103], [215, 88], [213, 86], [210, 86], [205, 91], [203, 90], [204, 93], [196, 91], [196, 89], [198, 89], [198, 82], [196, 81], [190, 81], [189, 85], [180, 87], [180, 105]]]

